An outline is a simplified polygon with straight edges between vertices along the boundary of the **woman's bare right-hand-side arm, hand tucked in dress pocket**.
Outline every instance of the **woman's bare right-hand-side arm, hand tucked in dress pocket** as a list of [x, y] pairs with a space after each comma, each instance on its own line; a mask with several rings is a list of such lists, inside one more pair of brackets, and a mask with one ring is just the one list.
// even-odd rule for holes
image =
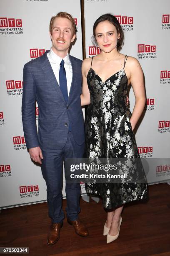
[[132, 130], [134, 130], [135, 125], [143, 113], [143, 109], [146, 103], [145, 86], [143, 79], [143, 70], [137, 59], [130, 57], [129, 65], [130, 67], [130, 83], [133, 87], [133, 92], [135, 94], [135, 106], [133, 108], [133, 113], [130, 118], [130, 123], [132, 125]]

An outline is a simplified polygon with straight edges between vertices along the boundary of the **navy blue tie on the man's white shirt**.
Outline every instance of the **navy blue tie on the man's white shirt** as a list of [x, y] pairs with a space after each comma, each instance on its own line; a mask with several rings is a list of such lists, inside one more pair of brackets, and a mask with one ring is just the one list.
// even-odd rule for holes
[[66, 78], [63, 59], [60, 63], [59, 80], [60, 80], [60, 90], [62, 91], [65, 101], [67, 102], [68, 101], [67, 78]]

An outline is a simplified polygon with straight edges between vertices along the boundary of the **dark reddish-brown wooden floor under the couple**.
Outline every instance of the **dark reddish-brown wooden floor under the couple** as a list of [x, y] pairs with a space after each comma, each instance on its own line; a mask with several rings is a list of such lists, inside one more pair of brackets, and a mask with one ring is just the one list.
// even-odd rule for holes
[[[65, 209], [66, 200], [63, 200]], [[170, 185], [149, 186], [149, 200], [130, 203], [122, 212], [120, 236], [107, 244], [103, 236], [106, 212], [102, 202], [80, 200], [80, 219], [90, 236], [77, 236], [64, 220], [60, 240], [47, 245], [50, 226], [47, 203], [1, 210], [0, 246], [29, 247], [30, 255], [170, 256]]]

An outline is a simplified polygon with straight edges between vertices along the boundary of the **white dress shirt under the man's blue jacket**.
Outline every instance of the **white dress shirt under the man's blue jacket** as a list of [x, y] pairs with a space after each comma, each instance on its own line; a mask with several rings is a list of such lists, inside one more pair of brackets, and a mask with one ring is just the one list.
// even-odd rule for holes
[[[62, 58], [60, 58], [57, 54], [55, 54], [54, 51], [52, 51], [52, 48], [47, 53], [47, 58], [50, 61], [52, 70], [55, 74], [55, 78], [57, 79], [57, 82], [60, 86], [59, 71], [60, 71], [60, 62], [62, 61]], [[71, 65], [68, 53], [63, 58], [63, 61], [64, 61], [64, 67], [66, 72], [66, 78], [67, 78], [67, 92], [69, 95], [71, 82], [72, 82], [72, 65]]]

